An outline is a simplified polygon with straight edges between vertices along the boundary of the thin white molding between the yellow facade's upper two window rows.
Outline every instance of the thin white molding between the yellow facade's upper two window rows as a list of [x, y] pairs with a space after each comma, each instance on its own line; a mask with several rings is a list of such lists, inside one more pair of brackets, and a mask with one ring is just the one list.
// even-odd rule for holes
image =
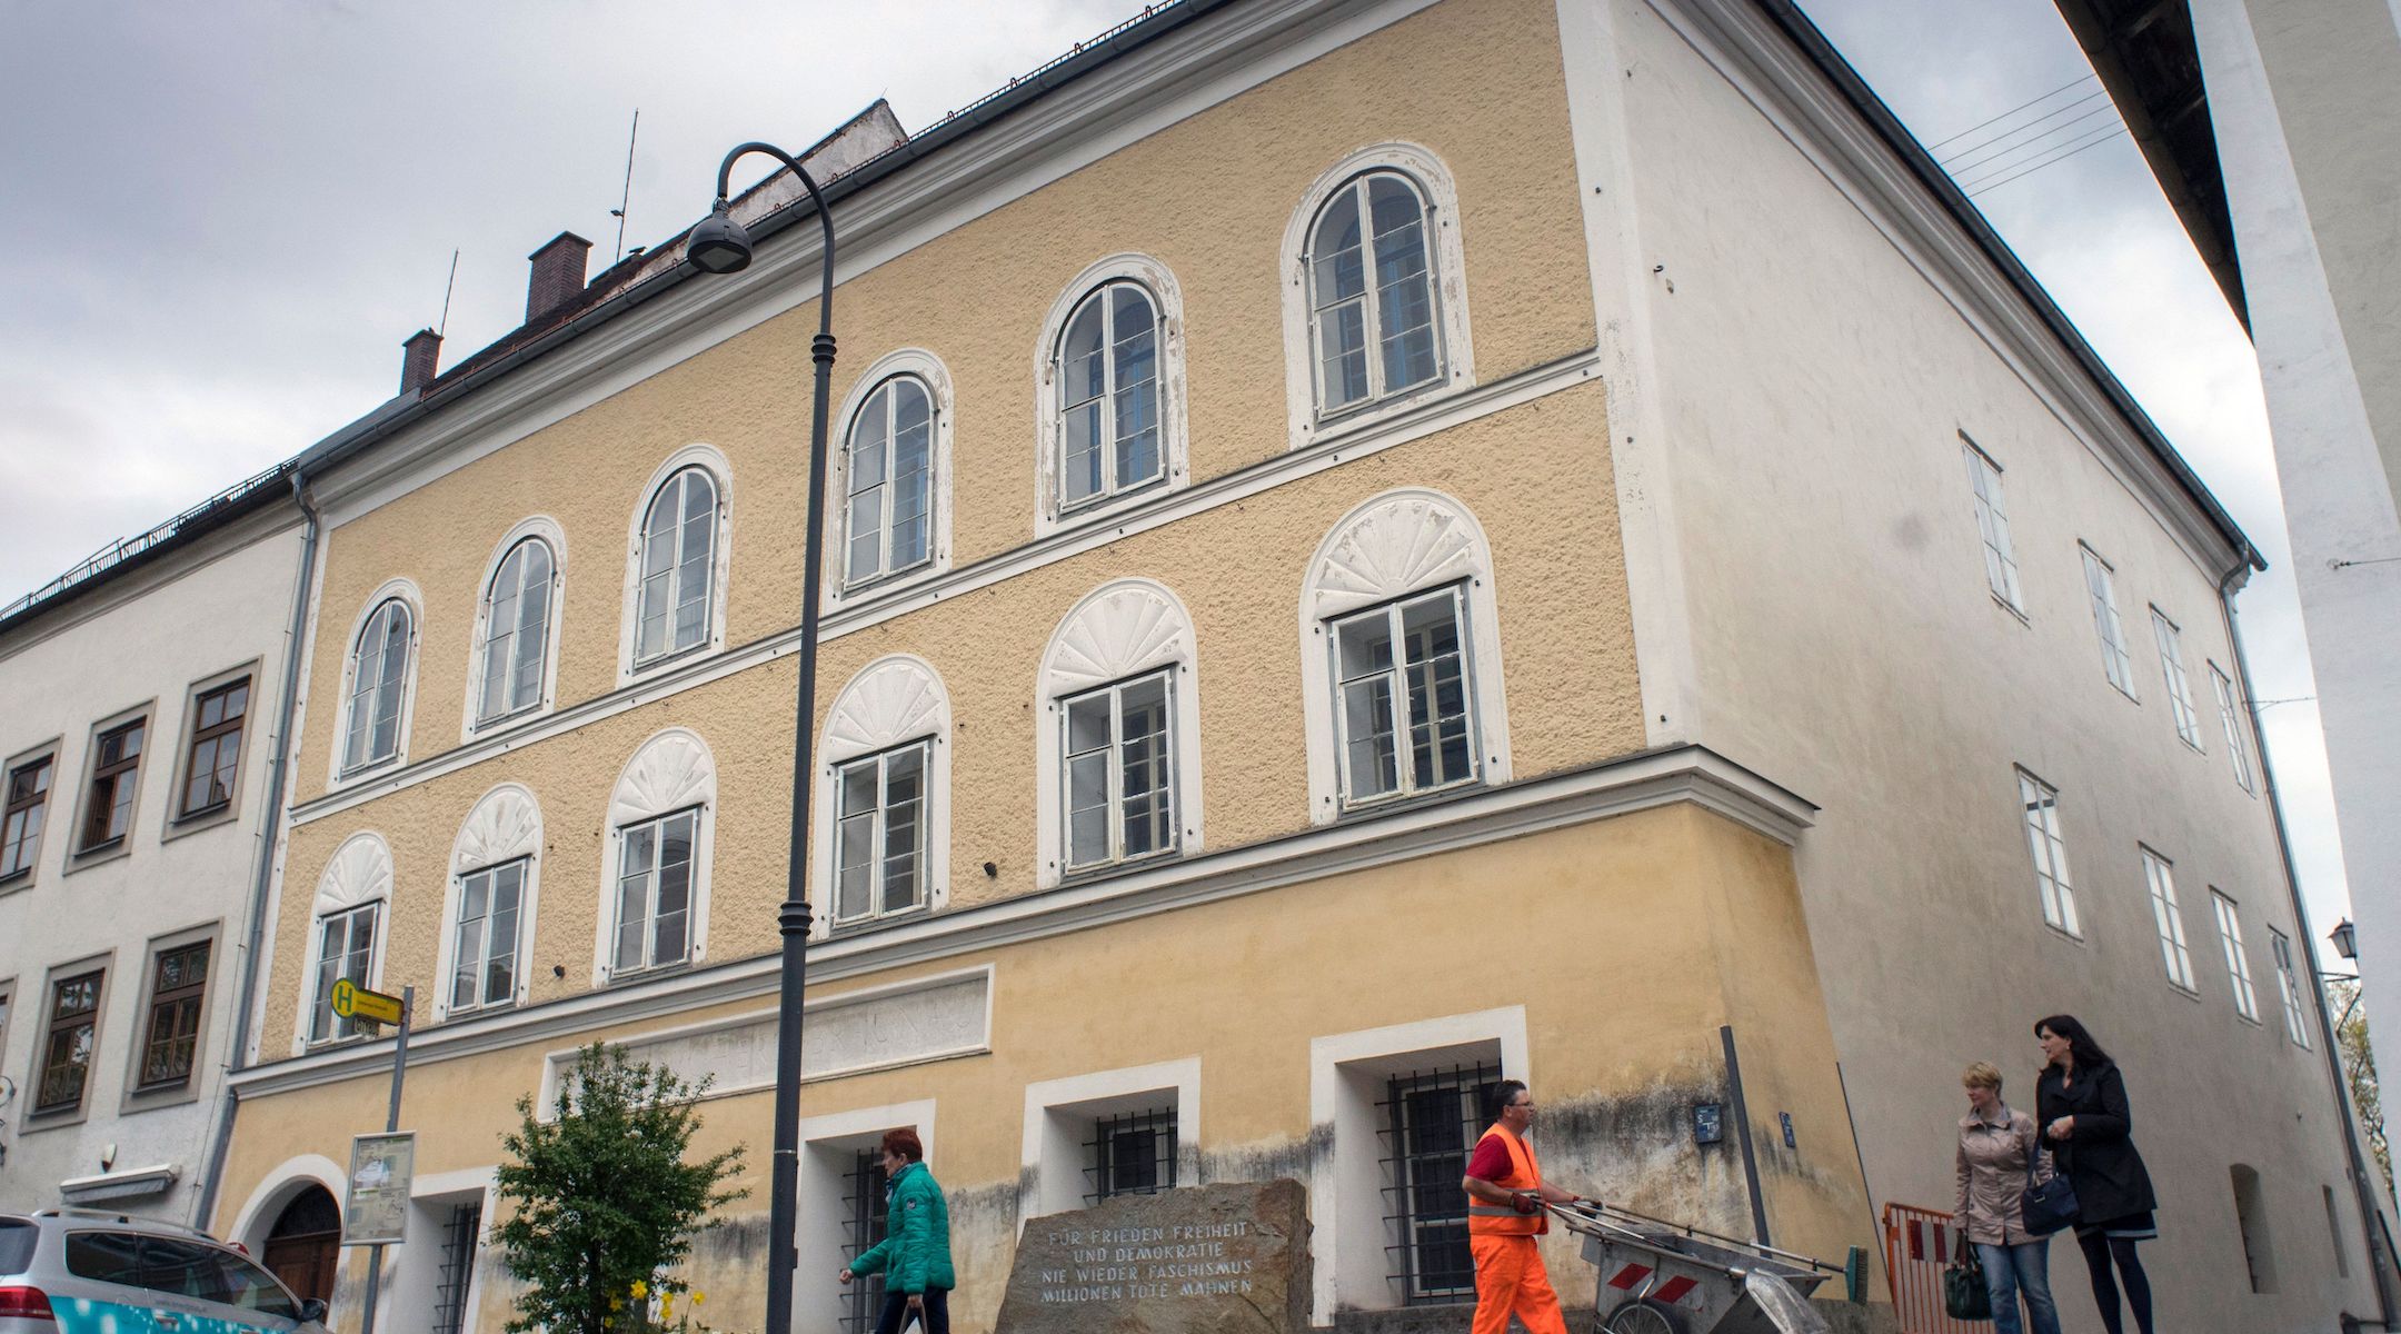
[[[999, 557], [975, 561], [972, 566], [944, 571], [903, 588], [891, 588], [884, 595], [860, 595], [852, 605], [828, 612], [826, 619], [819, 621], [819, 641], [836, 641], [848, 633], [881, 626], [893, 617], [905, 617], [936, 602], [977, 593], [1006, 578], [1107, 547], [1121, 537], [1164, 528], [1167, 523], [1191, 518], [1222, 504], [1244, 501], [1285, 482], [1313, 477], [1328, 468], [1337, 468], [1345, 458], [1366, 458], [1369, 453], [1381, 453], [1493, 413], [1505, 413], [1522, 403], [1532, 403], [1534, 398], [1597, 381], [1601, 374], [1599, 365], [1599, 353], [1585, 350], [1544, 367], [1517, 372], [1508, 379], [1481, 384], [1467, 393], [1424, 403], [1400, 417], [1376, 422], [1359, 432], [1328, 434], [1311, 449], [1277, 453], [1275, 458], [1222, 477], [1196, 482], [1181, 492], [1162, 492], [1140, 506], [1109, 516], [1107, 523], [1066, 528], [1061, 533], [1052, 533], [1049, 537], [1001, 552]], [[293, 806], [291, 825], [300, 828], [327, 816], [339, 816], [341, 811], [353, 811], [377, 797], [389, 797], [406, 787], [466, 770], [492, 756], [519, 751], [547, 737], [600, 722], [603, 717], [615, 717], [646, 703], [658, 703], [660, 698], [706, 686], [708, 681], [720, 681], [735, 672], [773, 662], [792, 653], [797, 645], [800, 629], [795, 626], [725, 653], [675, 662], [605, 696], [557, 708], [514, 727], [495, 729], [487, 737], [478, 737], [475, 741], [394, 770], [377, 770], [351, 780], [334, 792]]]

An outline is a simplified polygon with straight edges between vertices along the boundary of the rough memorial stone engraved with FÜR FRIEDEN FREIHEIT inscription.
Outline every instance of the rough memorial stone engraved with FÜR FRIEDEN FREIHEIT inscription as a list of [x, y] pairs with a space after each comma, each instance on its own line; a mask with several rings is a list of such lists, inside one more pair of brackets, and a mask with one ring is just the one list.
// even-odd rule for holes
[[1119, 1195], [1025, 1226], [999, 1329], [1299, 1334], [1309, 1212], [1297, 1180]]

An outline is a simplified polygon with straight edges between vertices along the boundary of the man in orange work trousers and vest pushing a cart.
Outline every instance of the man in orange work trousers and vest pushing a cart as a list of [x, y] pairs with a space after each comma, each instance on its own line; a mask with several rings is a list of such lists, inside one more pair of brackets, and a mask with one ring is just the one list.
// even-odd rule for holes
[[1508, 1334], [1515, 1315], [1529, 1334], [1568, 1334], [1558, 1312], [1558, 1293], [1541, 1267], [1534, 1238], [1551, 1231], [1551, 1204], [1573, 1204], [1573, 1195], [1541, 1180], [1541, 1164], [1525, 1132], [1534, 1125], [1534, 1094], [1517, 1080], [1493, 1084], [1493, 1128], [1477, 1140], [1467, 1159], [1467, 1248], [1477, 1257], [1477, 1322], [1472, 1334]]

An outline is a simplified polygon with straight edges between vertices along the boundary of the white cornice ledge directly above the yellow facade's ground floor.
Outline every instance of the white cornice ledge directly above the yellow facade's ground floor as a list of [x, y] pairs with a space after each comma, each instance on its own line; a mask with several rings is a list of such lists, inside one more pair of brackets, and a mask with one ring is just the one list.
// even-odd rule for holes
[[[819, 984], [872, 977], [1673, 804], [1702, 806], [1786, 847], [1798, 845], [1818, 816], [1818, 806], [1810, 801], [1702, 746], [1645, 751], [1565, 775], [1465, 792], [1409, 811], [1342, 821], [1227, 852], [840, 936], [809, 948], [809, 977]], [[435, 1024], [411, 1034], [408, 1058], [413, 1063], [456, 1060], [564, 1034], [658, 1020], [703, 1005], [752, 1001], [776, 991], [778, 967], [778, 955], [756, 955], [655, 981], [593, 989], [528, 1010]], [[252, 1065], [230, 1075], [228, 1082], [240, 1096], [267, 1096], [341, 1080], [382, 1077], [389, 1065], [391, 1041], [375, 1039]]]

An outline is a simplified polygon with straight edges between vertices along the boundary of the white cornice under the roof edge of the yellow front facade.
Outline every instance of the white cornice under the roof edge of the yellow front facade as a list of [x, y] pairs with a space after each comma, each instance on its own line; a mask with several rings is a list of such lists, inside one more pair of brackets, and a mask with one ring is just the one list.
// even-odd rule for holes
[[[836, 281], [1198, 115], [1433, 0], [1227, 5], [840, 199]], [[819, 230], [771, 238], [740, 283], [684, 281], [310, 477], [339, 528], [816, 298]], [[800, 374], [800, 372], [795, 372]]]

